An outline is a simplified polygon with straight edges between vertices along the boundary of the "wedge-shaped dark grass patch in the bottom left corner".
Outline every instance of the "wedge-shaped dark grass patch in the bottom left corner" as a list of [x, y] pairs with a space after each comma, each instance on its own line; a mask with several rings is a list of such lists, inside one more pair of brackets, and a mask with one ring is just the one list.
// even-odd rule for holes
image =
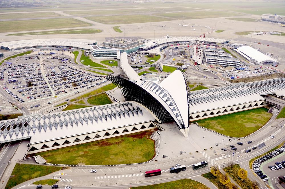
[[17, 163], [11, 174], [11, 175], [15, 175], [15, 177], [9, 178], [5, 189], [12, 188], [32, 178], [45, 176], [55, 171], [59, 171], [61, 169], [62, 167], [52, 167], [52, 166], [44, 166], [44, 165], [29, 165], [29, 164], [18, 164]]

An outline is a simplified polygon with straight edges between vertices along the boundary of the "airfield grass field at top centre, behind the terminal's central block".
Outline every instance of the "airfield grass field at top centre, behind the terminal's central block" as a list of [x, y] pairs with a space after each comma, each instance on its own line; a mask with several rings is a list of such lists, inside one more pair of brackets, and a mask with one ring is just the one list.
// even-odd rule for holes
[[88, 20], [100, 22], [104, 24], [133, 24], [133, 23], [144, 23], [144, 22], [162, 22], [173, 20], [171, 18], [161, 18], [157, 16], [149, 15], [119, 15], [119, 16], [90, 16], [86, 17]]

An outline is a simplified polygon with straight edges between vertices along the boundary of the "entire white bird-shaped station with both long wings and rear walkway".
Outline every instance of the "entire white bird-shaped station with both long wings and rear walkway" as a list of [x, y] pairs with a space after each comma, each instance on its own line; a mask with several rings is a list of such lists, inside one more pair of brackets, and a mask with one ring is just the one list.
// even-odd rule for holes
[[3, 120], [0, 142], [30, 138], [28, 153], [35, 153], [148, 130], [169, 121], [187, 137], [189, 121], [262, 107], [264, 95], [285, 96], [285, 78], [190, 92], [188, 76], [179, 68], [160, 83], [143, 81], [129, 65], [127, 53], [120, 56], [128, 79], [105, 77], [120, 87], [126, 101]]

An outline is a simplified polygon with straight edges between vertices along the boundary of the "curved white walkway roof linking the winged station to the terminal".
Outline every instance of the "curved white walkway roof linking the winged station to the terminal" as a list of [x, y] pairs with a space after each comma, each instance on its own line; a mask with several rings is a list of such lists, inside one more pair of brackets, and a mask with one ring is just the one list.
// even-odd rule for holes
[[129, 65], [128, 56], [126, 52], [120, 54], [120, 65], [124, 73], [127, 75], [129, 80], [137, 84], [141, 84], [141, 77], [137, 74], [137, 72]]

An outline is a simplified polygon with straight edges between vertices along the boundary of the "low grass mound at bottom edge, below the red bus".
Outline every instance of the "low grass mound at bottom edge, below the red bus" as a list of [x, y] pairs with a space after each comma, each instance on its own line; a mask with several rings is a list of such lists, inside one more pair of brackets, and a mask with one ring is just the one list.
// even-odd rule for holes
[[181, 180], [165, 182], [161, 184], [154, 184], [149, 186], [138, 186], [138, 187], [131, 187], [133, 189], [157, 189], [157, 188], [164, 188], [164, 189], [184, 189], [184, 188], [191, 188], [191, 189], [207, 189], [208, 187], [204, 184], [197, 182], [195, 180], [191, 180], [188, 178], [184, 178]]

